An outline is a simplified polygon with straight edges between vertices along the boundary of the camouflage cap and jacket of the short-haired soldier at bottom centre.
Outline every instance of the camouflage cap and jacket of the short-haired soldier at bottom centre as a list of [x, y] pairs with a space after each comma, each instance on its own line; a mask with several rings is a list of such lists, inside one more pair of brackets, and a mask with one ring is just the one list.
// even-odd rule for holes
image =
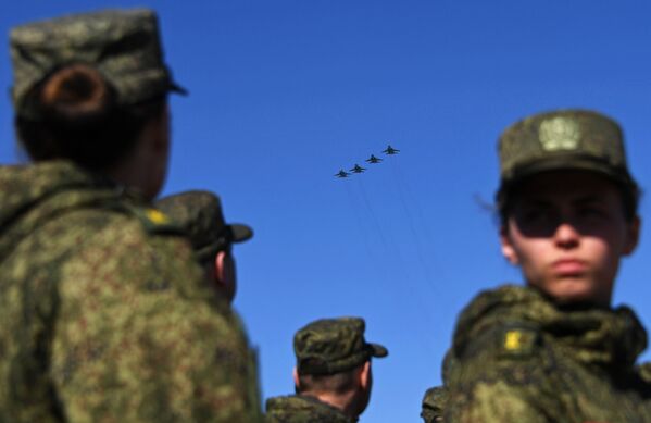
[[[322, 319], [300, 328], [293, 337], [299, 374], [328, 375], [354, 369], [372, 357], [388, 356], [379, 344], [364, 339], [365, 323], [360, 318]], [[351, 423], [338, 409], [306, 395], [270, 398], [267, 423]]]

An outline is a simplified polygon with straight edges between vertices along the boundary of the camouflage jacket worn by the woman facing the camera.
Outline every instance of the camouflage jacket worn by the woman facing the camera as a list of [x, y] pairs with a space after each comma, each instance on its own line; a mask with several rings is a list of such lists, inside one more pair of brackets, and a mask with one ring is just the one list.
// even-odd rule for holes
[[635, 366], [647, 333], [635, 313], [561, 308], [505, 286], [462, 312], [443, 421], [651, 422], [651, 383]]

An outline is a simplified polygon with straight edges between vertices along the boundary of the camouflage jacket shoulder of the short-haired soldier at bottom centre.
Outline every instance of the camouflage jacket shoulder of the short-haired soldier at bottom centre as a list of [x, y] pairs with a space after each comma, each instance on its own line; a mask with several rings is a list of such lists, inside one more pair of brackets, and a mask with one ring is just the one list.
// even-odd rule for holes
[[291, 395], [266, 400], [266, 423], [354, 423], [333, 406], [316, 398]]

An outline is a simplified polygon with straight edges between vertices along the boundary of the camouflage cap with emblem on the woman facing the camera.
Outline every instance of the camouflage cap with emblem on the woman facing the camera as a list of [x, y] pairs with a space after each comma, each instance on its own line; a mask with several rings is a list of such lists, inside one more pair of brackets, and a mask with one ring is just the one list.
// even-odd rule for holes
[[597, 172], [637, 190], [619, 125], [597, 112], [560, 110], [526, 117], [504, 130], [499, 153], [499, 202], [524, 177], [560, 170]]

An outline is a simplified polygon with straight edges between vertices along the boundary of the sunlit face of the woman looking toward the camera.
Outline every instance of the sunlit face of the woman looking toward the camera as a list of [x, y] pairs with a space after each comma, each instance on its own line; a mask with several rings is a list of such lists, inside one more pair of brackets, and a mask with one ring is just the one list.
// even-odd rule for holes
[[639, 233], [617, 187], [591, 172], [563, 171], [533, 176], [515, 195], [502, 252], [527, 284], [560, 302], [610, 304], [619, 260]]

